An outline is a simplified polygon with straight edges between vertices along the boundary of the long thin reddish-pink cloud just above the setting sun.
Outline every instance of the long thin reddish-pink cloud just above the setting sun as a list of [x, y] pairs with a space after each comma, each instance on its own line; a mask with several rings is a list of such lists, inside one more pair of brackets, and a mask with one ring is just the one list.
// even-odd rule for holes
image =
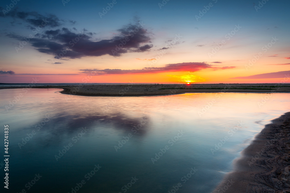
[[[95, 75], [105, 74], [134, 74], [134, 73], [161, 73], [168, 71], [200, 71], [201, 69], [211, 68], [211, 65], [207, 63], [189, 62], [189, 63], [178, 63], [178, 64], [167, 64], [164, 67], [145, 67], [139, 70], [121, 70], [121, 69], [81, 69], [81, 73], [95, 73]], [[94, 74], [93, 73], [93, 74]]]

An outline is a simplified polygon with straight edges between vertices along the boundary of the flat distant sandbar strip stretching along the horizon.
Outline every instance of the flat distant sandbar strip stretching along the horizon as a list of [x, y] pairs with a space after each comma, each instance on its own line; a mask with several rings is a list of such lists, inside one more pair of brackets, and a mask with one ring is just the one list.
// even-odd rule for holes
[[183, 93], [288, 93], [290, 84], [75, 84], [75, 85], [28, 85], [15, 88], [56, 88], [60, 93], [81, 96], [159, 96]]

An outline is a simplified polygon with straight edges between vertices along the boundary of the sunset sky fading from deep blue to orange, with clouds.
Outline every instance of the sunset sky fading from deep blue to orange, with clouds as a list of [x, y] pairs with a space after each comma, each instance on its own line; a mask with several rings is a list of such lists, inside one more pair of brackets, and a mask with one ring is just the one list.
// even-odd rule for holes
[[289, 5], [3, 0], [0, 83], [284, 83]]

